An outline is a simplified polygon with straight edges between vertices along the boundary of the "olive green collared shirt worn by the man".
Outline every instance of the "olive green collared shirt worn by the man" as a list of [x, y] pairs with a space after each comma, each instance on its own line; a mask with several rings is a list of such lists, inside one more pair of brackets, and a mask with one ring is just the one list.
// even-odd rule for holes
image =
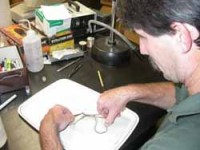
[[200, 150], [200, 93], [176, 87], [177, 102], [142, 150]]

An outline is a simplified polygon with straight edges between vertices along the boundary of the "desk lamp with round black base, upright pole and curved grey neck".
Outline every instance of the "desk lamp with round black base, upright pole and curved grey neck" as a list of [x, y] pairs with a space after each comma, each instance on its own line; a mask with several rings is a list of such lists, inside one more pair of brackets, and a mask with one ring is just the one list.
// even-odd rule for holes
[[95, 40], [91, 50], [91, 55], [95, 60], [110, 66], [117, 66], [128, 61], [130, 58], [130, 50], [136, 50], [136, 46], [134, 46], [124, 35], [114, 29], [115, 7], [116, 0], [112, 0], [111, 26], [96, 20], [90, 20], [88, 22], [90, 32], [92, 32], [91, 24], [103, 26], [110, 30], [109, 36]]

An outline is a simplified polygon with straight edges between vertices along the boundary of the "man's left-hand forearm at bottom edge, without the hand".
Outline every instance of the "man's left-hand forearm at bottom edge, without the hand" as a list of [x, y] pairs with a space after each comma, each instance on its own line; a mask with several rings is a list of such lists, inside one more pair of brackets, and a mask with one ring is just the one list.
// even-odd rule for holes
[[42, 150], [63, 150], [59, 132], [50, 120], [43, 120], [40, 126], [40, 143]]

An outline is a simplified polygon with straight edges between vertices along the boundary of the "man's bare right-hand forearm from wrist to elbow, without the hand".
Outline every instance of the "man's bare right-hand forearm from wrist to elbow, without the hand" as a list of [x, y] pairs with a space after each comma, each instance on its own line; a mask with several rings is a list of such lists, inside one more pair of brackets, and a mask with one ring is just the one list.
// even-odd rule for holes
[[131, 84], [125, 90], [128, 101], [138, 101], [163, 109], [170, 108], [176, 101], [175, 87], [171, 82]]

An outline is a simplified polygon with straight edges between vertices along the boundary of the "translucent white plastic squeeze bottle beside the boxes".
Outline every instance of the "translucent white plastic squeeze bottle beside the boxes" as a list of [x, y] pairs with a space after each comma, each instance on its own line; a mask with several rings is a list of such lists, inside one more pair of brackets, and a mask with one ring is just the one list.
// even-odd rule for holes
[[30, 72], [39, 72], [43, 69], [43, 55], [41, 38], [33, 30], [27, 31], [23, 39], [25, 62]]

